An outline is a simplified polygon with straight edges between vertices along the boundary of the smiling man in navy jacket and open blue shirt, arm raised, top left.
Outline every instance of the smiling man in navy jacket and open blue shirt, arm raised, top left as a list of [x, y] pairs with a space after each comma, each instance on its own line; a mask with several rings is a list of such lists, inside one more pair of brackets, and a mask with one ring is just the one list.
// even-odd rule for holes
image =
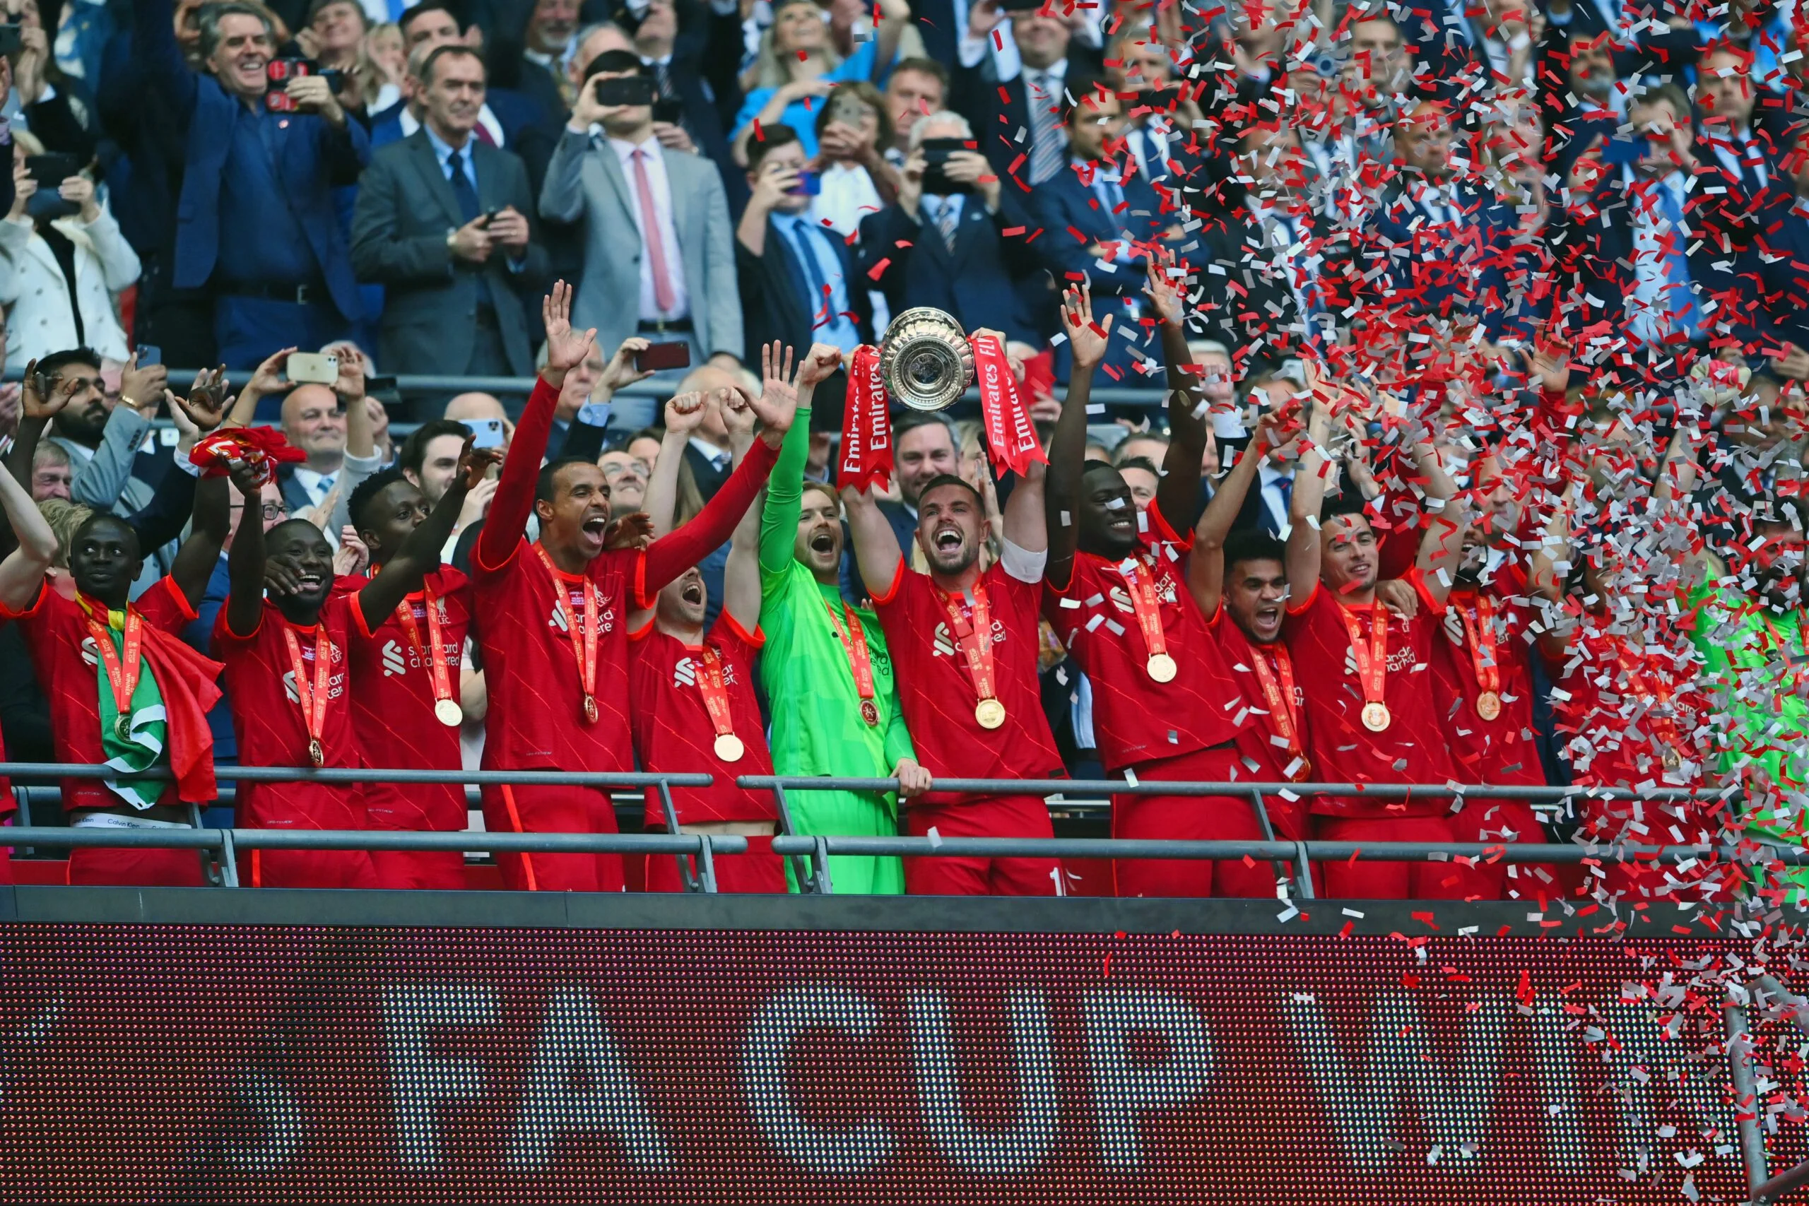
[[201, 11], [201, 54], [183, 60], [170, 0], [134, 0], [134, 40], [147, 85], [186, 125], [174, 287], [213, 293], [219, 356], [250, 369], [282, 347], [320, 347], [358, 322], [358, 282], [333, 204], [369, 159], [322, 76], [288, 81], [264, 103], [275, 31], [260, 5]]

